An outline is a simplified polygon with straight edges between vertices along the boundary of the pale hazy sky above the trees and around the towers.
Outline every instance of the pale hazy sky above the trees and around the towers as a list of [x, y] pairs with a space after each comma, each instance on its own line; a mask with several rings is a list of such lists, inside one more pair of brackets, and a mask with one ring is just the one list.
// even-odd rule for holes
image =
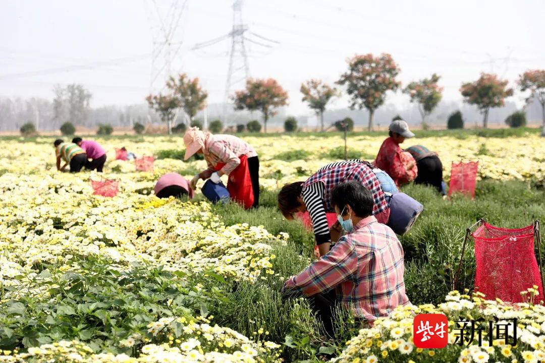
[[[171, 1], [156, 0], [165, 14]], [[179, 0], [179, 8], [184, 0]], [[143, 102], [150, 90], [155, 17], [151, 0], [0, 0], [0, 95], [52, 99], [53, 84], [83, 83], [92, 106]], [[174, 41], [173, 70], [199, 77], [209, 102], [225, 93], [232, 1], [187, 0]], [[356, 53], [391, 53], [408, 83], [436, 72], [446, 101], [481, 71], [513, 85], [526, 69], [545, 68], [545, 1], [246, 0], [249, 29], [278, 42], [247, 42], [252, 77], [274, 77], [288, 90], [289, 112], [307, 113], [299, 87], [309, 78], [335, 82]], [[248, 34], [248, 38], [271, 44]], [[239, 84], [240, 88], [242, 84]], [[512, 97], [520, 103], [518, 93]], [[390, 94], [403, 106], [408, 97]], [[346, 106], [346, 99], [333, 107]]]

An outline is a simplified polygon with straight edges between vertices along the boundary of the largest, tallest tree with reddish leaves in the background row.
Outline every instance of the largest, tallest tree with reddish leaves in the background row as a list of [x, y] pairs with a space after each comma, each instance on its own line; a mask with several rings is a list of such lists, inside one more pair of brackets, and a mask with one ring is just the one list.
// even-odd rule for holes
[[373, 130], [373, 114], [386, 100], [386, 91], [395, 91], [401, 87], [396, 81], [399, 67], [390, 54], [356, 55], [347, 60], [348, 72], [341, 75], [337, 84], [346, 85], [347, 93], [352, 98], [350, 108], [369, 110], [368, 131]]

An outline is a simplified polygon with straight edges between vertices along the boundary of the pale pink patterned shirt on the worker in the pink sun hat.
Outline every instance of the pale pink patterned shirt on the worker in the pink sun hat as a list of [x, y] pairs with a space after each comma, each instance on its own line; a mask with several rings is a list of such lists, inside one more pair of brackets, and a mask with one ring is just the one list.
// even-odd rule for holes
[[204, 159], [208, 169], [203, 173], [206, 175], [212, 174], [219, 163], [225, 164], [221, 171], [228, 175], [238, 167], [241, 156], [257, 156], [256, 150], [250, 144], [233, 135], [212, 135], [204, 146]]

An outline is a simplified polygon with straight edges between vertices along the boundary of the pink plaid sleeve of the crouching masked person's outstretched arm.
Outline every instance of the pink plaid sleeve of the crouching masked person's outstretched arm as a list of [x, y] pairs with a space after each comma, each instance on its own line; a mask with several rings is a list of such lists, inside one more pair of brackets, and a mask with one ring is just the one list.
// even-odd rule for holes
[[289, 295], [302, 292], [312, 296], [328, 291], [350, 278], [357, 269], [358, 254], [350, 237], [343, 236], [325, 256], [288, 279], [282, 293]]

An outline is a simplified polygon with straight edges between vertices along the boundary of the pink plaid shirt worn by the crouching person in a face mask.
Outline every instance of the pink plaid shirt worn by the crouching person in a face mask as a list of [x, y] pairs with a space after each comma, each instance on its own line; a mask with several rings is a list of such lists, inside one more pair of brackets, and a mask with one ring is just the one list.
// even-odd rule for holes
[[336, 288], [338, 300], [373, 322], [398, 305], [410, 304], [403, 272], [403, 248], [396, 233], [370, 216], [328, 254], [288, 279], [282, 292], [312, 296]]

